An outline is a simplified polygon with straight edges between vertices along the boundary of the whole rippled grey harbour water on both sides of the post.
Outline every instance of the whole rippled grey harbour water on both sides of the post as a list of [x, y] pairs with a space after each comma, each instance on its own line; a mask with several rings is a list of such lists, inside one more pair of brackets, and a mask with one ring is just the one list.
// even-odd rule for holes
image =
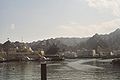
[[[68, 59], [47, 63], [48, 80], [120, 80], [111, 60]], [[0, 80], [41, 80], [40, 62], [0, 63]]]

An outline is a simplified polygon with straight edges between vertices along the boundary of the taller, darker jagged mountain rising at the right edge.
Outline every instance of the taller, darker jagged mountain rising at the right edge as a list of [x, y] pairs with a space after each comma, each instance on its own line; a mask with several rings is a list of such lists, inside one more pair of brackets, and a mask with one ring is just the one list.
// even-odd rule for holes
[[118, 50], [120, 49], [120, 29], [118, 28], [114, 32], [105, 35], [95, 34], [86, 43], [89, 49], [100, 46], [104, 49]]

